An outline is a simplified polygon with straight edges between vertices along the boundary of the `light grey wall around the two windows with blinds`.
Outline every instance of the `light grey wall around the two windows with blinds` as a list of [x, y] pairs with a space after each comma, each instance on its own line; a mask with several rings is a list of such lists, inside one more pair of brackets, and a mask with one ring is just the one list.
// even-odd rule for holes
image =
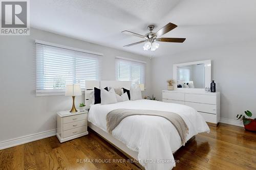
[[116, 56], [146, 61], [144, 95], [151, 89], [147, 57], [37, 29], [30, 36], [0, 36], [0, 142], [56, 129], [56, 112], [71, 108], [66, 96], [35, 96], [35, 39], [103, 53], [103, 80], [115, 80]]

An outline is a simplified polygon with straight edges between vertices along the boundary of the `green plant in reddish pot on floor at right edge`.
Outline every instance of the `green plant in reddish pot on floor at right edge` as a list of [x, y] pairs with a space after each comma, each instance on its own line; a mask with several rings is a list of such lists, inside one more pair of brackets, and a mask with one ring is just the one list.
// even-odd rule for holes
[[245, 130], [256, 132], [256, 118], [254, 119], [251, 118], [252, 113], [249, 110], [244, 112], [246, 116], [248, 116], [249, 118], [246, 118], [244, 114], [237, 115], [237, 118], [240, 120], [243, 120]]

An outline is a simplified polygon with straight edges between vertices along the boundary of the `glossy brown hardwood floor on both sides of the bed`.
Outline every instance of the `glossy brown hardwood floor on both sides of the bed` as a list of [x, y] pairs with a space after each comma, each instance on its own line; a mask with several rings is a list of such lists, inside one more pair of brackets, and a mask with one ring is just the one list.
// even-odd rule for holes
[[[175, 155], [174, 169], [256, 169], [256, 133], [242, 127], [220, 124], [210, 127]], [[88, 159], [91, 162], [78, 162]], [[102, 163], [96, 160], [120, 160]], [[126, 161], [124, 161], [126, 160]], [[92, 162], [93, 161], [93, 162]], [[139, 169], [96, 135], [59, 143], [56, 136], [0, 151], [0, 169]]]

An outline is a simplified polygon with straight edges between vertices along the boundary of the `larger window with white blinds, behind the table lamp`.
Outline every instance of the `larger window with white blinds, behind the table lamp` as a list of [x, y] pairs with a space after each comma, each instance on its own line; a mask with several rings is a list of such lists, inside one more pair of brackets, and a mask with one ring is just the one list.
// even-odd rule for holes
[[36, 93], [63, 92], [66, 84], [101, 79], [101, 56], [36, 43]]

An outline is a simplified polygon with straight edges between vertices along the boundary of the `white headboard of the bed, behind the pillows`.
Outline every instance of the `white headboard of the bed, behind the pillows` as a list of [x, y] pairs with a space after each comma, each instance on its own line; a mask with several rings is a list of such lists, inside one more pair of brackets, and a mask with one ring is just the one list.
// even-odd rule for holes
[[91, 93], [94, 87], [97, 88], [105, 88], [105, 87], [113, 87], [113, 88], [126, 88], [130, 89], [132, 82], [131, 81], [86, 81], [86, 90], [84, 91], [84, 103], [86, 104], [86, 108], [89, 109], [92, 104], [92, 96]]

